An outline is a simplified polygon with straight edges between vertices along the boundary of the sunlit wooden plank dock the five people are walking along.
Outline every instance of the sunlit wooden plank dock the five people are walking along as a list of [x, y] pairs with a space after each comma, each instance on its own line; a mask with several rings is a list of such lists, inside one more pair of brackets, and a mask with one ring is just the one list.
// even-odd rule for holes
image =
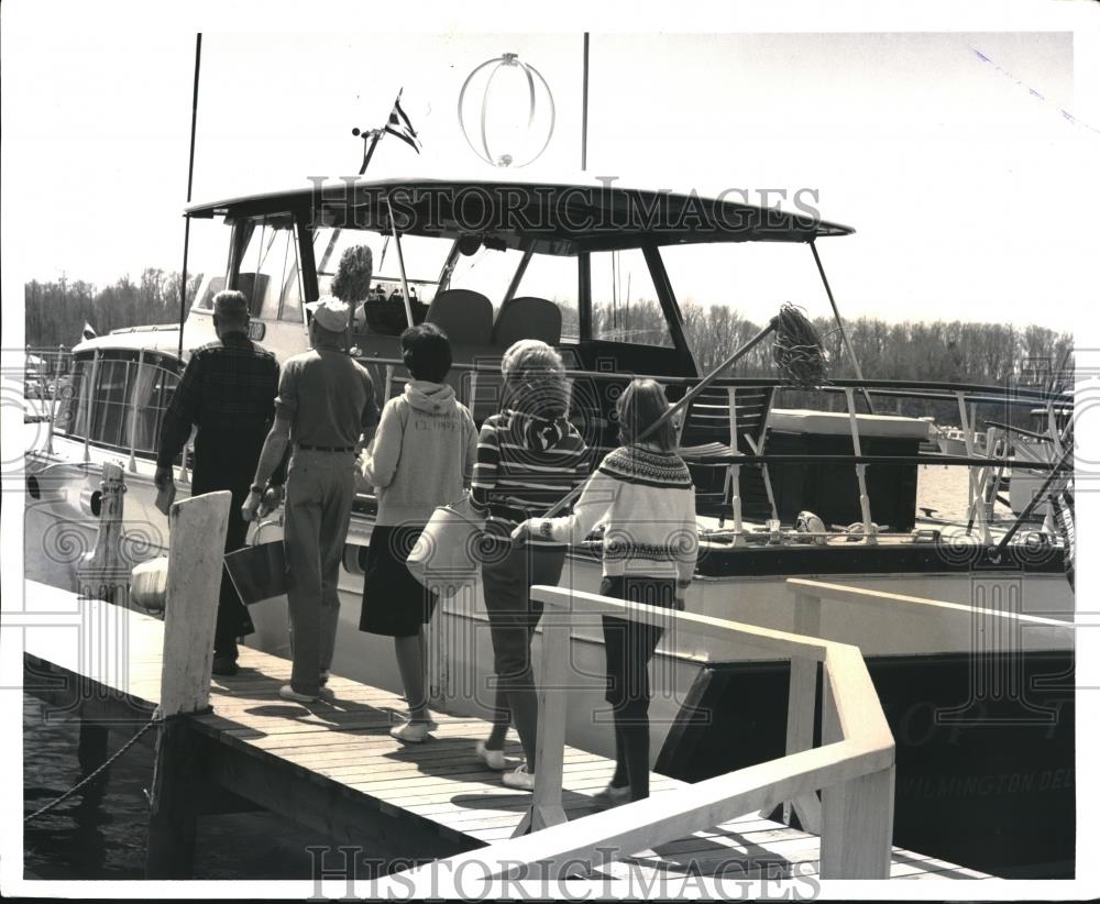
[[[31, 582], [26, 594], [28, 693], [110, 724], [121, 743], [160, 701], [164, 624]], [[438, 714], [431, 740], [403, 745], [388, 735], [405, 712], [396, 694], [333, 676], [334, 699], [300, 705], [278, 697], [289, 680], [287, 660], [245, 648], [240, 665], [238, 675], [213, 680], [212, 712], [188, 717], [210, 782], [340, 844], [367, 852], [372, 846], [396, 847], [406, 861], [503, 841], [519, 824], [530, 795], [504, 787], [499, 773], [474, 754], [475, 742], [488, 735], [484, 720]], [[509, 741], [506, 752], [518, 758], [518, 742]], [[565, 748], [562, 804], [570, 820], [596, 812], [593, 795], [606, 786], [613, 768], [603, 757]], [[651, 779], [653, 795], [683, 786], [662, 775]], [[802, 877], [816, 873], [820, 851], [817, 836], [750, 814], [605, 870], [705, 874], [721, 868], [739, 869], [746, 878]], [[898, 848], [890, 873], [987, 878]]]

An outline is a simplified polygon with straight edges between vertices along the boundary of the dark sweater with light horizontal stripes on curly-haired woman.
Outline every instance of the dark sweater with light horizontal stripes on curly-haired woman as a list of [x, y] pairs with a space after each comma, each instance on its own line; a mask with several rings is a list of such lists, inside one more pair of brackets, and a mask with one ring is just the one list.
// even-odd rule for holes
[[507, 537], [581, 483], [588, 467], [588, 449], [565, 418], [543, 420], [506, 409], [482, 425], [473, 504], [487, 514], [490, 533]]

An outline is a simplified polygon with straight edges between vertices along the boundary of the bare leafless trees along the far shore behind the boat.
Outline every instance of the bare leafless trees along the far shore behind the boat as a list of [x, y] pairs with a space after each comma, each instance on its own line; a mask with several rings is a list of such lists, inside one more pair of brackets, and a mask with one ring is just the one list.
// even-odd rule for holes
[[[188, 279], [187, 304], [195, 298], [200, 276]], [[123, 276], [103, 288], [84, 280], [31, 280], [25, 285], [26, 343], [35, 348], [72, 348], [80, 341], [85, 322], [103, 334], [120, 327], [175, 323], [179, 319], [180, 275], [153, 267], [138, 279]], [[575, 332], [575, 306], [562, 305], [566, 334]], [[756, 335], [762, 323], [741, 316], [726, 305], [682, 305], [684, 332], [701, 373], [708, 373]], [[828, 354], [833, 378], [856, 376], [851, 356], [844, 348], [836, 321], [812, 318]], [[878, 318], [845, 319], [844, 328], [868, 379], [913, 379], [993, 386], [1032, 385], [1068, 388], [1072, 384], [1072, 335], [1040, 326], [1024, 328], [1005, 323], [970, 323], [960, 320], [888, 323]], [[629, 306], [596, 305], [593, 330], [604, 339], [669, 344], [664, 317], [656, 300], [635, 300]], [[772, 345], [765, 341], [750, 351], [727, 376], [776, 376]], [[838, 394], [787, 390], [787, 406], [834, 408], [843, 404]], [[878, 407], [878, 406], [877, 406]], [[920, 399], [883, 403], [882, 409], [912, 417], [933, 416], [941, 422], [958, 422], [957, 408]], [[1022, 422], [1016, 419], [1016, 422]]]

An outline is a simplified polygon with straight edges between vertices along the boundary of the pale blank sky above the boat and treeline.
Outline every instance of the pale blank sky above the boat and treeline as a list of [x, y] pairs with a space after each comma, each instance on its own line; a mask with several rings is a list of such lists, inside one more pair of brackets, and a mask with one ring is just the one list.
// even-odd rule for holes
[[[25, 4], [19, 14], [20, 24], [46, 16]], [[322, 33], [273, 20], [188, 30], [139, 16], [90, 33], [69, 20], [8, 40], [4, 210], [19, 214], [4, 233], [6, 267], [100, 285], [179, 268], [200, 26], [195, 200], [355, 173], [362, 143], [351, 129], [382, 124], [399, 89], [424, 153], [384, 140], [372, 174], [493, 175], [466, 145], [458, 96], [504, 52], [535, 66], [554, 101], [550, 144], [521, 172], [580, 177], [583, 22], [565, 33], [399, 33], [334, 20]], [[1084, 106], [1082, 36], [1057, 25], [592, 27], [588, 178], [750, 198], [811, 192], [802, 197], [825, 219], [857, 231], [821, 243], [847, 316], [1070, 330], [1094, 296], [1085, 217], [1098, 200], [1087, 161], [1100, 151], [1100, 117]], [[193, 272], [222, 266], [220, 229], [196, 225], [193, 243]], [[681, 300], [757, 319], [787, 300], [827, 312], [803, 247], [675, 250], [669, 269]]]

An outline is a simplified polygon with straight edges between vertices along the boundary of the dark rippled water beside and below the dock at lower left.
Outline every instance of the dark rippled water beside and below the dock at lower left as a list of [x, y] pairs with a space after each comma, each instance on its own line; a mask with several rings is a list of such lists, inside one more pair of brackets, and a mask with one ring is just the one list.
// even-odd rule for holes
[[[23, 696], [23, 813], [28, 815], [68, 791], [80, 778], [79, 723], [51, 713]], [[135, 729], [136, 730], [136, 727]], [[129, 739], [112, 730], [108, 752]], [[143, 879], [146, 790], [153, 751], [134, 745], [84, 792], [24, 826], [23, 866], [40, 879]], [[307, 846], [331, 839], [299, 829], [275, 814], [200, 816], [196, 879], [311, 879]], [[28, 878], [31, 878], [30, 875]]]

